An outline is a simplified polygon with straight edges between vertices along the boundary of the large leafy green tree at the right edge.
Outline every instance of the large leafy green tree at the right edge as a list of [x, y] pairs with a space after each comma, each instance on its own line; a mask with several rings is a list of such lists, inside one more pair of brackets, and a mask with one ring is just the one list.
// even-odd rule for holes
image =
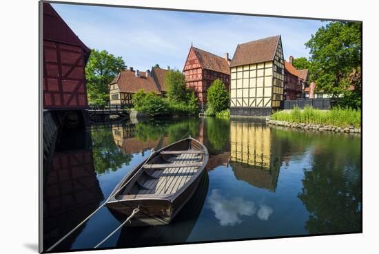
[[[354, 107], [360, 107], [362, 96], [361, 36], [361, 23], [334, 21], [305, 43], [311, 54], [309, 79], [316, 82], [316, 89], [335, 97], [342, 94], [346, 101], [353, 100]], [[354, 92], [348, 92], [350, 85]]]

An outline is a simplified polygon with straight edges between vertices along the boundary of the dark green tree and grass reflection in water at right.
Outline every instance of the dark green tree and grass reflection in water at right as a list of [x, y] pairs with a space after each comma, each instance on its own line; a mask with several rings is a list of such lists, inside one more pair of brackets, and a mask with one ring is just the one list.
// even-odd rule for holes
[[[361, 230], [360, 140], [347, 135], [298, 133], [276, 129], [285, 151], [310, 149], [298, 198], [309, 211], [305, 229], [313, 233]], [[354, 149], [351, 149], [354, 147]]]

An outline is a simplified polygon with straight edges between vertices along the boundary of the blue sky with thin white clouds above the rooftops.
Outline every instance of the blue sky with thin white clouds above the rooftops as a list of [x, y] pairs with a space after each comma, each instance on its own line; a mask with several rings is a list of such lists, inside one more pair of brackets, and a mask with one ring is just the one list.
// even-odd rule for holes
[[125, 64], [147, 70], [158, 63], [183, 70], [195, 47], [232, 58], [238, 43], [281, 34], [285, 59], [309, 56], [307, 42], [321, 21], [228, 14], [52, 4], [90, 48], [122, 56]]

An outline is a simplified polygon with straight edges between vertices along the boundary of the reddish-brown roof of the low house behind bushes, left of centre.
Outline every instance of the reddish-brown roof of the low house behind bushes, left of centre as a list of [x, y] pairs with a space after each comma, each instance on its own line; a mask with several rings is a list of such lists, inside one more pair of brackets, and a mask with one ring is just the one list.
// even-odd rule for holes
[[124, 93], [135, 93], [139, 89], [144, 89], [145, 92], [154, 92], [156, 94], [161, 94], [158, 86], [154, 82], [153, 77], [147, 77], [146, 72], [139, 72], [140, 77], [136, 77], [136, 71], [123, 70], [118, 74], [110, 85], [117, 83], [119, 85], [120, 92]]

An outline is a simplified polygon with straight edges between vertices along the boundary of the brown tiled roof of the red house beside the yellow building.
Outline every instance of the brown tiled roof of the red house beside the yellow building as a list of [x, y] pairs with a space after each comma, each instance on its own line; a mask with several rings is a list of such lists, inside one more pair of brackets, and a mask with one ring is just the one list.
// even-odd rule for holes
[[225, 58], [216, 56], [215, 54], [201, 50], [197, 47], [192, 47], [192, 49], [194, 50], [203, 69], [230, 74], [229, 65]]

